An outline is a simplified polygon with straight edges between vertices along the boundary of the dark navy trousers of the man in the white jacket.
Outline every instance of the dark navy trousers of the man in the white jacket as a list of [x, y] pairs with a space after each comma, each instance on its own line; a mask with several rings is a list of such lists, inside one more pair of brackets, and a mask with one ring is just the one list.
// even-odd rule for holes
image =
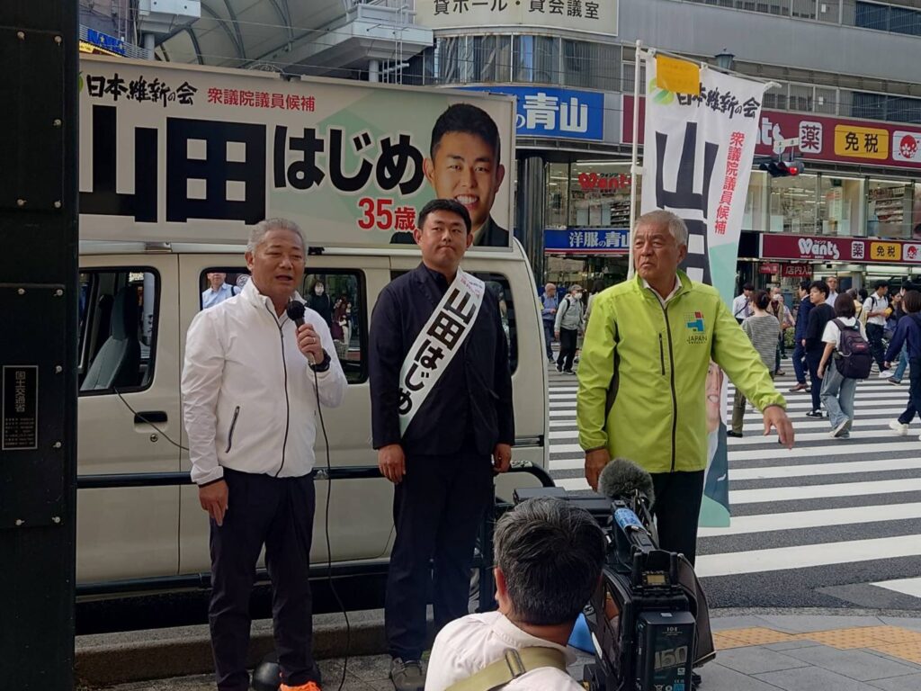
[[225, 468], [227, 514], [211, 521], [208, 621], [218, 691], [247, 691], [250, 594], [265, 545], [272, 579], [275, 650], [287, 685], [320, 682], [313, 662], [309, 568], [316, 507], [313, 477], [272, 477]]

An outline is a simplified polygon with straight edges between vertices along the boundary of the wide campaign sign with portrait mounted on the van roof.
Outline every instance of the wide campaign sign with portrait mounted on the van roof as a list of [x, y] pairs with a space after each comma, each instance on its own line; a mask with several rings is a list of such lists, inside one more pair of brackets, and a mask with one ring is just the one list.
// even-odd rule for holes
[[412, 244], [438, 196], [467, 207], [478, 248], [511, 245], [513, 99], [99, 57], [80, 68], [82, 238], [231, 242], [286, 217], [311, 246]]

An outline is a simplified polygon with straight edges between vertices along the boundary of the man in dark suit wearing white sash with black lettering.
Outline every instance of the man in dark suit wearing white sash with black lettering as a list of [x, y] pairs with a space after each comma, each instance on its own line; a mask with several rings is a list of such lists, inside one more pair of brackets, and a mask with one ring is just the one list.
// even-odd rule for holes
[[[410, 377], [401, 376], [403, 362], [419, 361], [417, 336], [446, 295], [450, 302], [473, 242], [471, 217], [458, 202], [435, 199], [420, 213], [414, 238], [422, 264], [381, 291], [371, 317], [369, 358], [374, 448], [381, 474], [395, 486], [385, 629], [398, 691], [422, 691], [426, 684], [420, 660], [428, 593], [437, 628], [468, 614], [477, 529], [492, 498], [494, 473], [507, 471], [515, 439], [507, 341], [498, 301], [488, 289], [482, 289], [467, 336], [452, 349], [455, 356], [445, 360], [405, 426], [408, 394], [402, 384]], [[470, 315], [470, 305], [463, 302], [454, 313]], [[439, 352], [447, 358], [448, 348]]]

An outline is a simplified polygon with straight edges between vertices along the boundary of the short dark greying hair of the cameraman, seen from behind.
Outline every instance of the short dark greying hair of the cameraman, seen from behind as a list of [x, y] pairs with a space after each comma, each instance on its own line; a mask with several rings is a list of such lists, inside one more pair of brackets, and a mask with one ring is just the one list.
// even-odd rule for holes
[[495, 524], [495, 564], [524, 624], [575, 621], [598, 586], [604, 552], [591, 514], [561, 499], [528, 499]]

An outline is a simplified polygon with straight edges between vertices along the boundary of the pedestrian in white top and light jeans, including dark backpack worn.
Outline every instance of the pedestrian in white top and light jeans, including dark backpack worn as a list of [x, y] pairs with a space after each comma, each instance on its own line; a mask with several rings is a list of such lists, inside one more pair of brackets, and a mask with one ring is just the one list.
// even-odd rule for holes
[[832, 423], [831, 436], [847, 439], [854, 424], [857, 381], [869, 377], [873, 356], [864, 325], [857, 320], [854, 300], [846, 293], [834, 300], [834, 316], [822, 334], [825, 350], [818, 374], [822, 404]]

